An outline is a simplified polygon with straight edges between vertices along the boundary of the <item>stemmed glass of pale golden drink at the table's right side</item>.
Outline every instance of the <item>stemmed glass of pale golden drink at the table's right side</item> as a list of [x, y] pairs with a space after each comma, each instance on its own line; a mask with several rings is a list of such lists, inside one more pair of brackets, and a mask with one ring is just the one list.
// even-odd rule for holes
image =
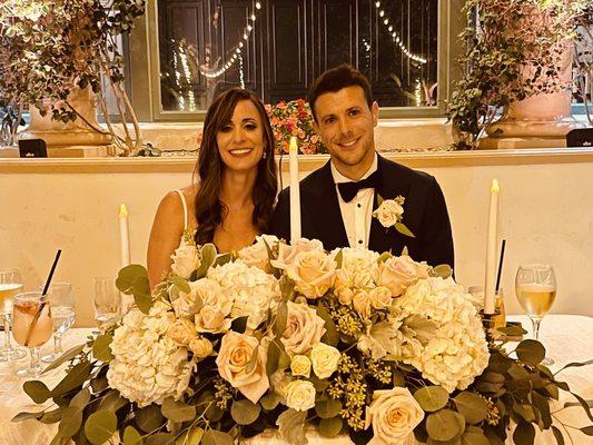
[[[515, 278], [515, 291], [520, 305], [533, 324], [535, 339], [540, 339], [540, 324], [556, 298], [556, 277], [550, 265], [533, 264], [520, 266]], [[545, 357], [542, 365], [553, 365], [552, 358]]]

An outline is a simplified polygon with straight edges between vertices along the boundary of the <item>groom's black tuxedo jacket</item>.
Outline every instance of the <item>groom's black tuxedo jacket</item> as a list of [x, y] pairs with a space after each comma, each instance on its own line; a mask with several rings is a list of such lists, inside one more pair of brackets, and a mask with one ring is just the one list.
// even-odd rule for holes
[[[332, 250], [348, 247], [349, 243], [329, 162], [300, 181], [300, 225], [304, 238], [319, 239], [326, 249]], [[368, 248], [399, 255], [407, 247], [409, 256], [417, 261], [426, 261], [431, 266], [447, 264], [454, 268], [451, 222], [445, 198], [435, 178], [380, 156], [377, 169], [383, 184], [380, 189], [375, 190], [373, 210], [378, 207], [377, 192], [384, 199], [402, 195], [406, 198], [402, 222], [415, 238], [402, 235], [393, 227], [385, 229], [373, 217]], [[278, 197], [271, 231], [286, 240], [290, 239], [289, 214], [289, 188], [285, 188]]]

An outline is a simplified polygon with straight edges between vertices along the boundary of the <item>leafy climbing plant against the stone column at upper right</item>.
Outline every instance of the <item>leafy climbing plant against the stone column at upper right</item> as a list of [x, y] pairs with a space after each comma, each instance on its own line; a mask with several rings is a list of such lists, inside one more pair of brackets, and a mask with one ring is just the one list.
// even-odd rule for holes
[[[587, 0], [467, 0], [463, 77], [447, 103], [457, 149], [476, 148], [494, 123], [542, 95], [570, 110], [571, 51]], [[492, 131], [491, 131], [492, 132]], [[494, 135], [496, 136], [496, 135]]]

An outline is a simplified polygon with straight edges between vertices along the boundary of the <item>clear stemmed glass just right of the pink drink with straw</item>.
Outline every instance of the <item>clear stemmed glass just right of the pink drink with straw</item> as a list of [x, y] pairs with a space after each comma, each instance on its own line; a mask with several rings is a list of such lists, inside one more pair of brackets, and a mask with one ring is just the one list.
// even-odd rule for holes
[[53, 326], [53, 352], [41, 357], [41, 362], [51, 363], [62, 354], [62, 336], [75, 324], [75, 298], [70, 283], [52, 283], [48, 290], [51, 303], [51, 323]]

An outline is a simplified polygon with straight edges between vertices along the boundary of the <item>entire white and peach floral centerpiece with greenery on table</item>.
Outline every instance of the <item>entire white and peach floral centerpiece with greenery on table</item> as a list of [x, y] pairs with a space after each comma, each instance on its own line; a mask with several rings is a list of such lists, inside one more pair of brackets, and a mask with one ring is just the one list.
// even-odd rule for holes
[[27, 382], [53, 405], [14, 421], [59, 423], [53, 444], [231, 445], [277, 427], [303, 445], [307, 425], [355, 444], [523, 445], [535, 427], [563, 443], [550, 402], [570, 388], [543, 346], [488, 344], [449, 273], [317, 240], [185, 245], [152, 295], [144, 267], [119, 273], [137, 308], [51, 365], [68, 362], [55, 388]]

